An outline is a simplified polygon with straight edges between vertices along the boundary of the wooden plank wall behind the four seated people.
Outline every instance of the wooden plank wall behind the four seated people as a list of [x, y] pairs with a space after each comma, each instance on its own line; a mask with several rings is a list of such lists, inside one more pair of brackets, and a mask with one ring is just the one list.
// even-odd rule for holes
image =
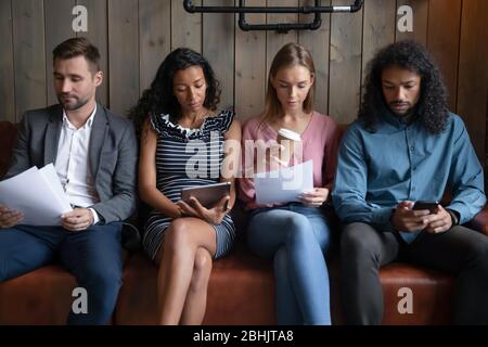
[[[230, 5], [236, 0], [196, 0]], [[247, 0], [249, 5], [307, 5], [313, 0]], [[351, 0], [322, 0], [322, 5]], [[88, 33], [72, 30], [73, 7], [88, 9]], [[414, 11], [413, 33], [399, 33], [397, 10]], [[249, 23], [310, 22], [311, 15], [255, 14]], [[355, 14], [324, 14], [317, 31], [244, 33], [231, 14], [189, 14], [181, 0], [0, 0], [0, 120], [20, 120], [25, 110], [55, 102], [51, 50], [70, 36], [87, 36], [100, 49], [104, 83], [99, 100], [126, 114], [147, 88], [164, 56], [190, 47], [210, 61], [222, 85], [221, 106], [242, 119], [264, 106], [274, 53], [296, 41], [313, 54], [316, 108], [339, 123], [356, 118], [365, 67], [381, 47], [401, 39], [427, 46], [449, 89], [449, 105], [464, 118], [480, 158], [487, 131], [488, 1], [365, 0]]]

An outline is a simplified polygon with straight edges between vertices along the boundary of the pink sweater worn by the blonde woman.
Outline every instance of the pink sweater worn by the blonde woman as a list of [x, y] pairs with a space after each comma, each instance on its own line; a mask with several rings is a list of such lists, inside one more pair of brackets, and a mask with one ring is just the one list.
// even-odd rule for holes
[[[245, 163], [246, 140], [277, 140], [277, 131], [264, 123], [258, 129], [261, 117], [253, 117], [243, 126], [243, 165]], [[337, 150], [339, 145], [341, 131], [335, 120], [313, 112], [310, 123], [301, 133], [304, 154], [301, 160], [295, 160], [293, 165], [313, 160], [313, 185], [332, 189], [335, 168], [337, 165]], [[243, 168], [243, 174], [244, 174]], [[239, 197], [245, 204], [245, 209], [262, 207], [256, 204], [256, 191], [253, 179], [243, 177], [239, 180]], [[270, 206], [268, 206], [270, 207]]]

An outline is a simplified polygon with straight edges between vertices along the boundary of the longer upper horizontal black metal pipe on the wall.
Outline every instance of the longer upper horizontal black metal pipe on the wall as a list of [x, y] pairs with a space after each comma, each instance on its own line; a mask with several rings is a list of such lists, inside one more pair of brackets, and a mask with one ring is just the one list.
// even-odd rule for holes
[[357, 12], [361, 10], [364, 0], [355, 0], [344, 7], [195, 7], [191, 0], [184, 0], [183, 7], [190, 13], [337, 13]]

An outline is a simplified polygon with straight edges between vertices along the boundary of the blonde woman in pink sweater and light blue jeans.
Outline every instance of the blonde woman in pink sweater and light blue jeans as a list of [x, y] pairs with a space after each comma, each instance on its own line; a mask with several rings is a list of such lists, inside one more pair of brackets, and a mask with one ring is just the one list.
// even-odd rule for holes
[[[256, 255], [274, 260], [279, 324], [331, 324], [325, 264], [331, 230], [323, 205], [336, 167], [338, 129], [331, 117], [313, 111], [314, 82], [310, 53], [296, 43], [284, 46], [271, 64], [264, 114], [243, 126], [243, 149], [247, 141], [272, 143], [285, 128], [299, 134], [303, 152], [281, 164], [313, 162], [314, 189], [301, 194], [299, 203], [260, 206], [248, 167], [240, 181], [240, 197], [251, 211], [248, 246]], [[244, 163], [252, 155], [246, 151]], [[257, 160], [252, 165], [259, 166]]]

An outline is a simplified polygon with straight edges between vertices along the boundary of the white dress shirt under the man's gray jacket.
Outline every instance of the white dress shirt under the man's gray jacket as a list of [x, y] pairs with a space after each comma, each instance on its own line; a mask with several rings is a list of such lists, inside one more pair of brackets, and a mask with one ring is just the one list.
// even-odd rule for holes
[[[85, 208], [100, 202], [89, 162], [90, 136], [95, 113], [97, 105], [85, 125], [76, 129], [63, 111], [63, 125], [54, 164], [69, 203]], [[89, 209], [93, 215], [93, 224], [97, 224], [100, 217], [93, 208]]]

